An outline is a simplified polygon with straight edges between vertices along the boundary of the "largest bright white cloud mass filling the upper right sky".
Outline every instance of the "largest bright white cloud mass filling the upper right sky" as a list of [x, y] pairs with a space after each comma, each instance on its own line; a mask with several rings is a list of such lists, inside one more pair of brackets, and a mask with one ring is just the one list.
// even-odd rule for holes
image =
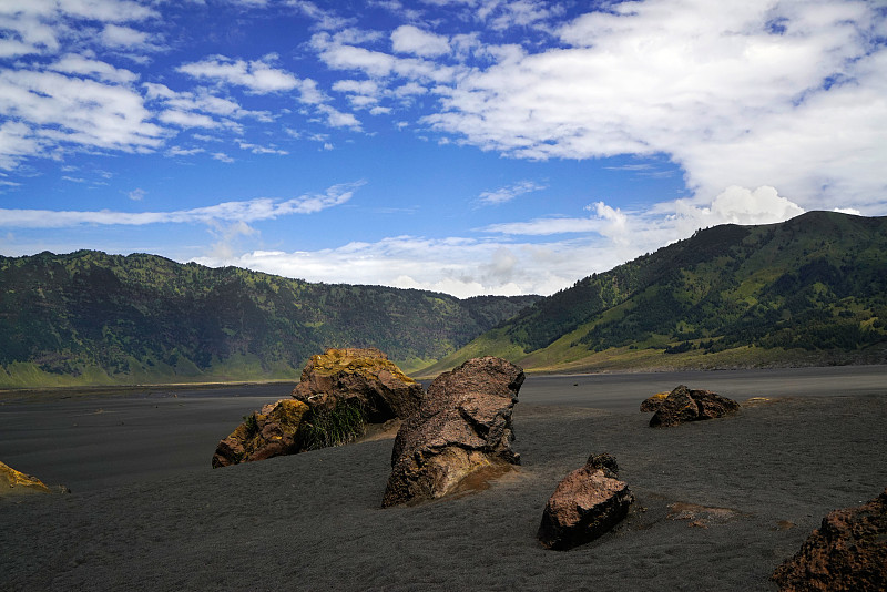
[[809, 207], [884, 203], [884, 21], [856, 0], [616, 3], [561, 28], [570, 47], [462, 71], [424, 121], [524, 159], [667, 154], [700, 198], [771, 185]]

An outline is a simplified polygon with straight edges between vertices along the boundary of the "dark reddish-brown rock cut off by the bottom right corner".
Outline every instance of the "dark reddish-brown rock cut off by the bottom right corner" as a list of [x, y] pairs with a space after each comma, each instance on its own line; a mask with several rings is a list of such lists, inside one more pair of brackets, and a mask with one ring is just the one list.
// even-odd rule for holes
[[772, 580], [782, 591], [887, 590], [887, 489], [865, 506], [829, 512]]

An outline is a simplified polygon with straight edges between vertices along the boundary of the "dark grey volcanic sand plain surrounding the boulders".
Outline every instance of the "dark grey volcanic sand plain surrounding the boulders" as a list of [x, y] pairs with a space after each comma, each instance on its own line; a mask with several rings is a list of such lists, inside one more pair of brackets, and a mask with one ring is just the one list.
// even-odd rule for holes
[[[514, 412], [518, 471], [386, 510], [391, 440], [212, 470], [217, 440], [266, 391], [0, 400], [0, 459], [73, 491], [0, 500], [0, 589], [775, 590], [769, 573], [826, 512], [887, 484], [885, 377], [531, 377]], [[648, 428], [639, 392], [675, 379], [772, 399]], [[603, 451], [635, 493], [629, 519], [573, 551], [543, 550], [534, 534], [554, 486]]]

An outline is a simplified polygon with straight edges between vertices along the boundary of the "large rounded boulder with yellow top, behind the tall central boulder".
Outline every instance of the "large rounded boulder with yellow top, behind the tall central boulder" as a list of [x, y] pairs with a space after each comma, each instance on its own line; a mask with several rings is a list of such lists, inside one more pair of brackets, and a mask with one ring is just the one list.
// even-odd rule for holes
[[312, 409], [356, 406], [367, 421], [383, 423], [409, 417], [419, 408], [425, 391], [378, 349], [347, 348], [313, 356], [293, 397]]

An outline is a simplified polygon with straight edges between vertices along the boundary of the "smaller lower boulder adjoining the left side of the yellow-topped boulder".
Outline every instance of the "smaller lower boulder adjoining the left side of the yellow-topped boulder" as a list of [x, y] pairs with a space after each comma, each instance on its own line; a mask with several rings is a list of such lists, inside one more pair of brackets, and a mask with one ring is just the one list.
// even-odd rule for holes
[[247, 416], [231, 436], [218, 442], [213, 468], [298, 452], [298, 429], [308, 406], [281, 399]]

